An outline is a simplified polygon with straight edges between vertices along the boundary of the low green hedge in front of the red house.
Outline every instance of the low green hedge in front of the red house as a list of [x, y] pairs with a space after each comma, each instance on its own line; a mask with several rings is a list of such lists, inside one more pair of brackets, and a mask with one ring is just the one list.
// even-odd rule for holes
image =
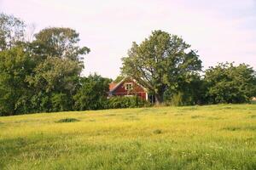
[[149, 105], [147, 101], [137, 96], [114, 96], [108, 99], [109, 109], [143, 107], [147, 105]]

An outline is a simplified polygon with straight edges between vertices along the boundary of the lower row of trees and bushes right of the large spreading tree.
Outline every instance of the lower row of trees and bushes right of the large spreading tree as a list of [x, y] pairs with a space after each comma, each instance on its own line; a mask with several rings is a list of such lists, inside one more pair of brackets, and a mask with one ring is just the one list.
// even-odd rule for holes
[[251, 103], [256, 96], [255, 71], [248, 65], [220, 63], [179, 82], [176, 90], [167, 90], [169, 105], [212, 105]]

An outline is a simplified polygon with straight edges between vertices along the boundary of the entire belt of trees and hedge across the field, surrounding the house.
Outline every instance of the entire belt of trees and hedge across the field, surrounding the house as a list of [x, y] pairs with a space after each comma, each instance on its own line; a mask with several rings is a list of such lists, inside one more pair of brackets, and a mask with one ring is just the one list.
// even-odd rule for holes
[[[81, 76], [90, 48], [79, 46], [73, 29], [45, 28], [31, 41], [26, 32], [22, 20], [0, 14], [1, 116], [148, 105], [137, 97], [108, 99], [111, 79]], [[134, 77], [157, 103], [167, 105], [245, 103], [256, 96], [252, 67], [219, 64], [202, 74], [201, 60], [189, 47], [181, 37], [153, 31], [141, 44], [133, 43], [122, 76]]]

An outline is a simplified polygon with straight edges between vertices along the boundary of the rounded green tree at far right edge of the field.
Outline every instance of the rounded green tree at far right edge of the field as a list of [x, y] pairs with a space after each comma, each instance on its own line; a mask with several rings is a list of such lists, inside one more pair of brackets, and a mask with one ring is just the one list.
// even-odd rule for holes
[[250, 102], [256, 95], [256, 75], [249, 65], [220, 63], [206, 71], [204, 80], [212, 104]]

